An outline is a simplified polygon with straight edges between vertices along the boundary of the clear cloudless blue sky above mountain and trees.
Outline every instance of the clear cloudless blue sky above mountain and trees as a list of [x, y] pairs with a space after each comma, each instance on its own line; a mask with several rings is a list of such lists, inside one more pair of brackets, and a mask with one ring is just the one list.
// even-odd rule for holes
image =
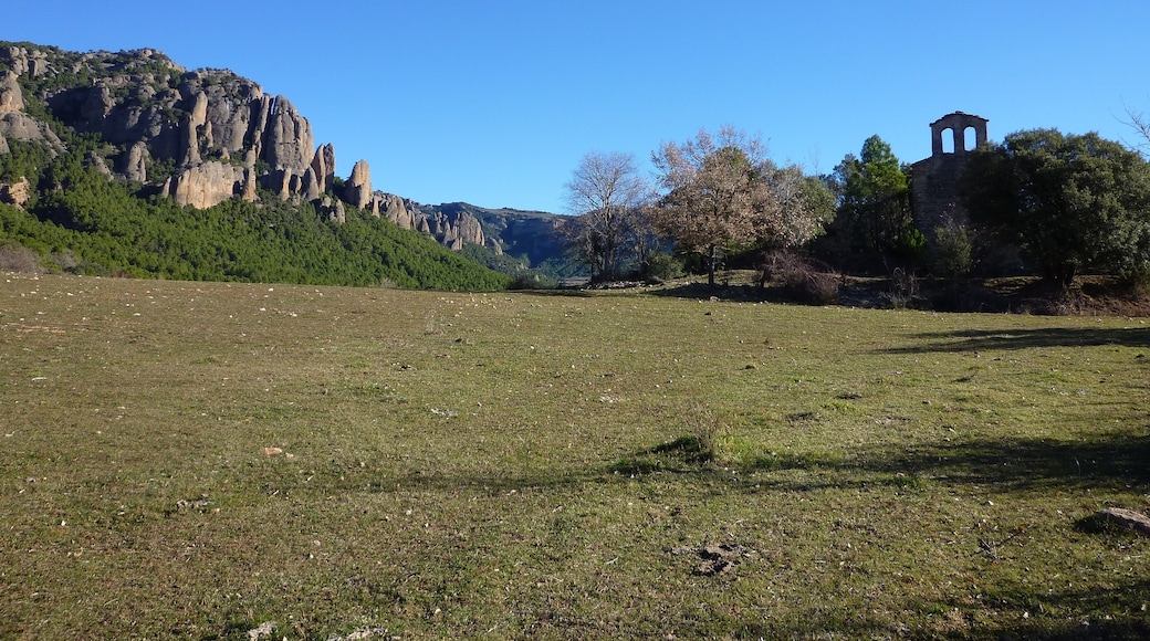
[[286, 96], [367, 160], [376, 190], [564, 213], [589, 152], [634, 154], [734, 125], [828, 172], [879, 134], [930, 155], [951, 111], [1133, 142], [1150, 114], [1147, 0], [14, 0], [0, 40], [151, 47]]

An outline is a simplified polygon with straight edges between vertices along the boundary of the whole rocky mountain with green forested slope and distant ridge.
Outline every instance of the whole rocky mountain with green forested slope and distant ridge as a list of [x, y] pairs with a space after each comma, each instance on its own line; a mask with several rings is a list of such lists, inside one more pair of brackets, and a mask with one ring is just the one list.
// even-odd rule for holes
[[[154, 49], [0, 41], [0, 242], [49, 263], [492, 288], [528, 261], [564, 263], [557, 218], [519, 214], [374, 190], [362, 160], [342, 179], [336, 150], [315, 145], [288, 98], [229, 70], [189, 71]], [[515, 260], [500, 258], [508, 248]]]

